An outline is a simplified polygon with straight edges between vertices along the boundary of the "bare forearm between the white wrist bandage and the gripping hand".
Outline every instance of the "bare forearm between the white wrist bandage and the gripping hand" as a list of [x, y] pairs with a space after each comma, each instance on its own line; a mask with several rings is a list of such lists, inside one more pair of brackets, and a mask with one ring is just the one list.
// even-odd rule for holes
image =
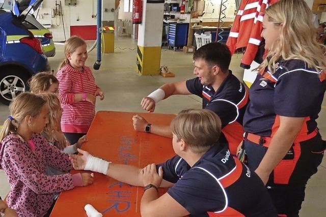
[[135, 166], [111, 163], [106, 175], [127, 184], [144, 186], [141, 171], [142, 169]]

